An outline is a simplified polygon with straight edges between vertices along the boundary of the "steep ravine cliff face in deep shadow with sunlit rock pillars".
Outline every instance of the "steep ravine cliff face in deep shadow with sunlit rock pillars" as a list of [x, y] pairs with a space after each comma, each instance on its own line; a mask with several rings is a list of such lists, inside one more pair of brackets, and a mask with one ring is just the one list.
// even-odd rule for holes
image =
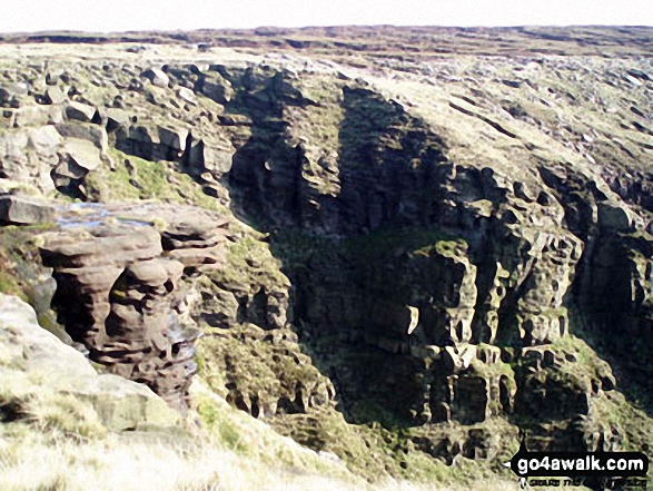
[[[597, 409], [612, 404], [610, 366], [576, 336], [621, 340], [614, 350], [625, 359], [644, 348], [627, 340], [647, 332], [651, 242], [601, 177], [547, 163], [537, 180], [521, 181], [496, 166], [458, 165], [425, 121], [345, 87], [329, 163], [338, 186], [323, 193], [307, 144], [294, 139], [297, 95], [266, 80], [255, 90], [271, 92], [269, 117], [283, 114], [285, 97], [291, 116], [273, 132], [265, 116], [253, 119], [230, 189], [271, 233], [300, 341], [346, 418], [413, 434], [507, 419], [533, 449], [627, 444]], [[647, 390], [647, 379], [623, 373]], [[433, 452], [479, 445], [487, 456], [492, 433]]]

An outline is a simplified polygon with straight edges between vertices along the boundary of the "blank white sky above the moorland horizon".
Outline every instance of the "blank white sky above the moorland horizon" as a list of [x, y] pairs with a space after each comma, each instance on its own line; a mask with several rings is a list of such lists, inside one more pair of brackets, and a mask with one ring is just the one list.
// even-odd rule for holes
[[395, 26], [653, 26], [653, 0], [0, 0], [0, 32]]

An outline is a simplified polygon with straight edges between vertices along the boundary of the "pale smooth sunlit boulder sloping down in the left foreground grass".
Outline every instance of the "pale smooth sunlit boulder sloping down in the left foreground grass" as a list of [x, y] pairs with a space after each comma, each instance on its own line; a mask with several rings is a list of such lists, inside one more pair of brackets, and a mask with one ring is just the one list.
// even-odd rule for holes
[[[174, 425], [179, 416], [147, 386], [111, 374], [98, 375], [77, 350], [41, 328], [34, 311], [21, 299], [0, 294], [0, 383], [3, 404], [29, 413], [31, 400], [57, 404], [75, 397], [90, 403], [110, 430], [141, 424]], [[12, 387], [20, 386], [20, 391]], [[38, 407], [38, 406], [37, 406]], [[33, 414], [39, 418], [37, 411]]]

